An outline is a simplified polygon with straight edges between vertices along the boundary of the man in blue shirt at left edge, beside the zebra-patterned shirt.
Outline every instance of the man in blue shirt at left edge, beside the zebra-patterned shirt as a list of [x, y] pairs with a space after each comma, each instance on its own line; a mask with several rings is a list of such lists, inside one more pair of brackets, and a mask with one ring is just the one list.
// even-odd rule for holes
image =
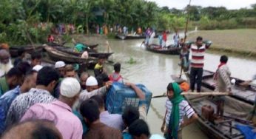
[[13, 100], [21, 93], [28, 92], [31, 88], [36, 87], [36, 71], [28, 72], [21, 86], [4, 93], [0, 98], [0, 135], [5, 130], [5, 120], [7, 112]]

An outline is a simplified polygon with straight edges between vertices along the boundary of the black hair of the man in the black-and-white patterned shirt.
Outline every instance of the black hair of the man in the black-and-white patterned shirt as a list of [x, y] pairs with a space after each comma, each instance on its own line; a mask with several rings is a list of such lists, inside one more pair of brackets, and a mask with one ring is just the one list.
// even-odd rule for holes
[[53, 67], [43, 67], [39, 70], [36, 85], [48, 86], [52, 81], [58, 81], [60, 75]]

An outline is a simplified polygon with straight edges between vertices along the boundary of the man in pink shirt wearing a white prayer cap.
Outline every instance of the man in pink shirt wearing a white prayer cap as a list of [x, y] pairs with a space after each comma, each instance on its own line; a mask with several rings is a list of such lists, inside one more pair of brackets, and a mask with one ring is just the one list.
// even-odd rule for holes
[[64, 78], [61, 81], [60, 96], [51, 104], [35, 104], [27, 110], [21, 121], [30, 118], [54, 121], [63, 138], [82, 138], [81, 121], [72, 112], [72, 107], [78, 99], [81, 87], [75, 78]]

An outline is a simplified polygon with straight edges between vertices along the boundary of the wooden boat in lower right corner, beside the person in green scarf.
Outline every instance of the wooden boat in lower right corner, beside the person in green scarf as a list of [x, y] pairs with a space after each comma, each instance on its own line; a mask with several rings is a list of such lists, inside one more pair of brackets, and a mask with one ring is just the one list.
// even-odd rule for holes
[[[207, 72], [205, 75], [209, 75]], [[173, 78], [173, 77], [172, 77]], [[173, 78], [174, 81], [180, 79]], [[208, 87], [202, 87], [203, 92], [211, 92], [212, 89]], [[223, 96], [225, 98], [224, 116], [223, 118], [217, 118], [214, 114], [211, 119], [207, 119], [202, 113], [203, 106], [212, 106], [216, 112], [216, 99], [209, 96], [198, 95], [184, 95], [186, 101], [198, 114], [198, 125], [200, 129], [206, 133], [209, 138], [218, 139], [240, 139], [245, 136], [238, 130], [236, 125], [253, 125], [252, 121], [249, 121], [249, 112], [252, 111], [253, 106], [244, 101], [240, 101], [238, 98], [232, 96]]]

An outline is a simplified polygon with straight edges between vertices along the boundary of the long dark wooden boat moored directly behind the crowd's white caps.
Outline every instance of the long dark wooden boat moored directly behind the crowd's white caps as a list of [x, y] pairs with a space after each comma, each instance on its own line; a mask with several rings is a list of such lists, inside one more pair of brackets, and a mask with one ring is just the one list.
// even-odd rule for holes
[[44, 47], [44, 50], [46, 50], [47, 54], [53, 61], [64, 61], [67, 64], [87, 64], [89, 61], [96, 61], [96, 59], [93, 58], [85, 59], [75, 55], [70, 55], [66, 52], [56, 50], [53, 47]]

